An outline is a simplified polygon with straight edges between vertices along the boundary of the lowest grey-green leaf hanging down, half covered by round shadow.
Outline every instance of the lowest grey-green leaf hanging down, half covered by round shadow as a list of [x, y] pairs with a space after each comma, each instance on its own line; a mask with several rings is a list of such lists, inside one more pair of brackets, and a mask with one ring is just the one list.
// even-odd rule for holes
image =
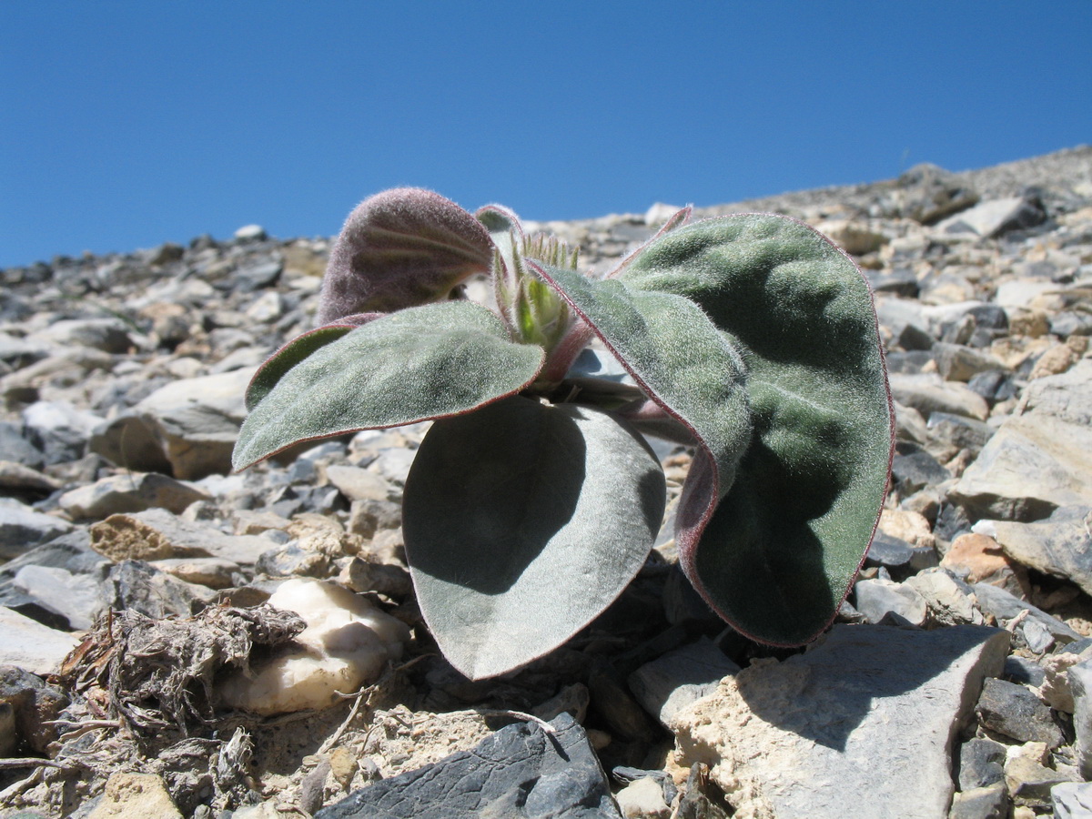
[[648, 444], [597, 410], [517, 396], [436, 422], [403, 531], [444, 656], [482, 679], [563, 643], [644, 565], [664, 501]]

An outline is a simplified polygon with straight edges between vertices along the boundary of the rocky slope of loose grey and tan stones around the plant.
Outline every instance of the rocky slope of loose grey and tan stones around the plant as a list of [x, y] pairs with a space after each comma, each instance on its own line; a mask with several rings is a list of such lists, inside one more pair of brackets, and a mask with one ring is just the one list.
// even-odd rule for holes
[[[328, 240], [0, 271], [0, 815], [1092, 815], [1092, 147], [698, 215], [740, 210], [819, 227], [877, 296], [898, 449], [841, 622], [748, 643], [665, 532], [592, 626], [484, 682], [403, 562], [423, 425], [229, 472]], [[669, 213], [538, 227], [602, 272]], [[689, 453], [660, 451], [677, 492]], [[262, 606], [289, 593], [383, 637], [248, 695], [281, 643], [336, 642]]]

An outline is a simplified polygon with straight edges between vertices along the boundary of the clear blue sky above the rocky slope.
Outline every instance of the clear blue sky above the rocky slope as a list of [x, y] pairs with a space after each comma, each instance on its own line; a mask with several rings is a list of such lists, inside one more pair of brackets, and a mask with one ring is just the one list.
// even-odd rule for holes
[[525, 218], [1092, 142], [1092, 2], [0, 2], [0, 268], [337, 232], [400, 185]]

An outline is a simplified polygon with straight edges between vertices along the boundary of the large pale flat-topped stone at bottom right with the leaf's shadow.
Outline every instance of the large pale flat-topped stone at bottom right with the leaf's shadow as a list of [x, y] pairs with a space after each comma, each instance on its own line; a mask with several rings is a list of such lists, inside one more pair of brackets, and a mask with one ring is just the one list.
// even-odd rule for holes
[[[675, 719], [737, 816], [946, 819], [951, 744], [1008, 634], [834, 626], [805, 654], [752, 663]], [[863, 764], [862, 760], [868, 760]]]

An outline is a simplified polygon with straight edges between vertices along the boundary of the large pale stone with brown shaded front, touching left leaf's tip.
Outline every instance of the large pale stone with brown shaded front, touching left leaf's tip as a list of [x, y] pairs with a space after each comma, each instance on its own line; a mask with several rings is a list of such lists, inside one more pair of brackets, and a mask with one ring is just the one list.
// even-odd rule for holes
[[254, 370], [248, 367], [162, 387], [96, 428], [90, 449], [138, 472], [165, 472], [186, 480], [227, 475]]

